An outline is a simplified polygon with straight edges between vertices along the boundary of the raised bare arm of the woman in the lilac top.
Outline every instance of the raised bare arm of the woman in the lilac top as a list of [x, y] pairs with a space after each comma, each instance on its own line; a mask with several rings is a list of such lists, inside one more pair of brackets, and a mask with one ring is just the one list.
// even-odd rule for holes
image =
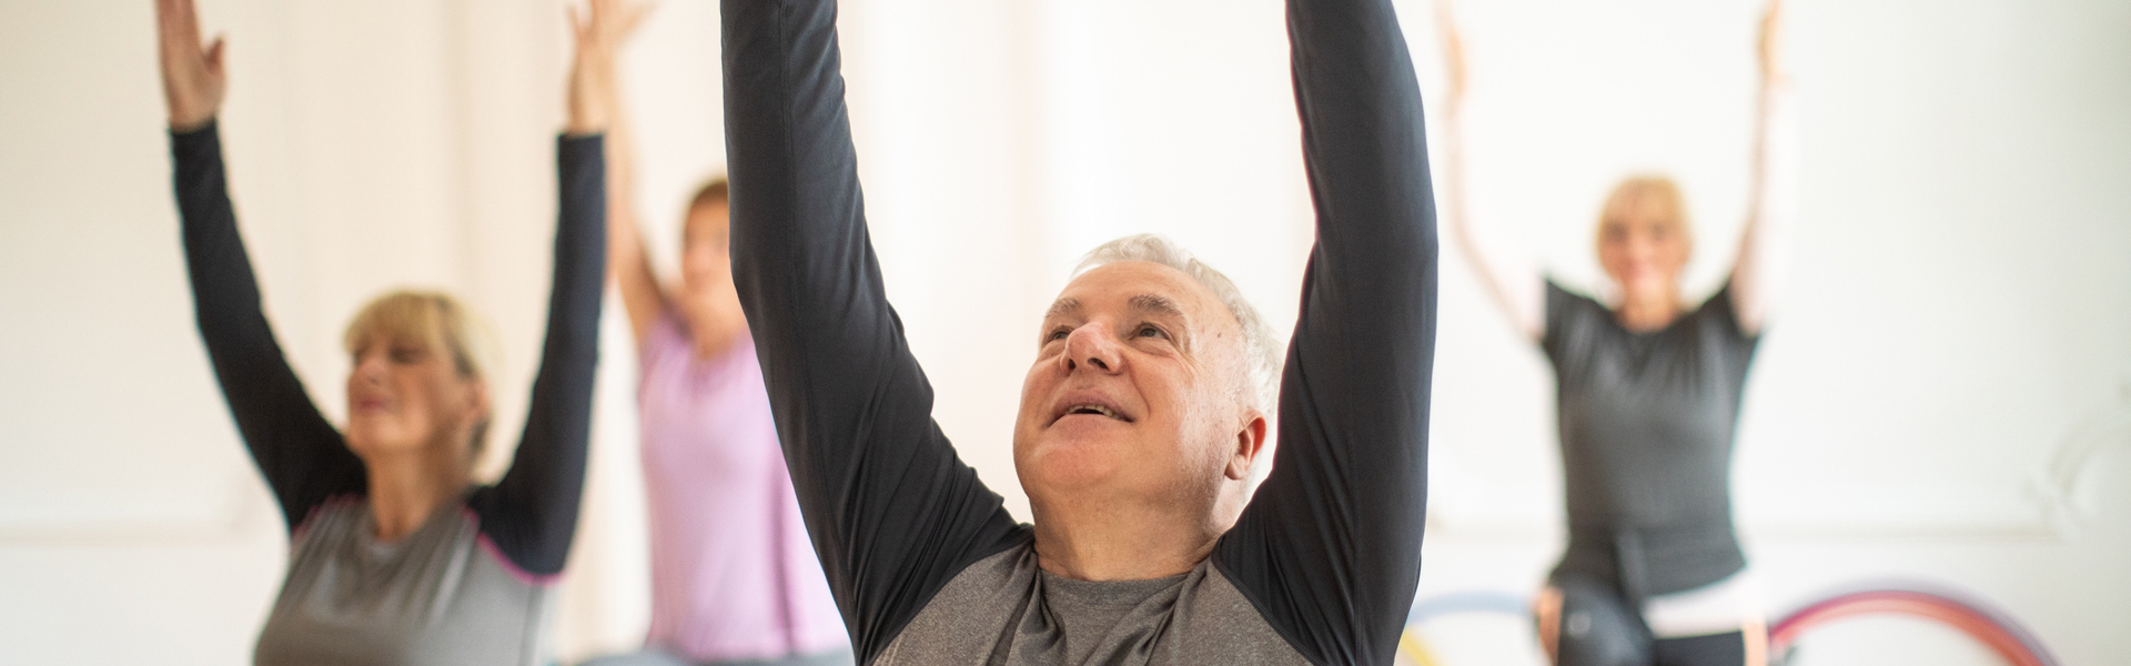
[[[644, 6], [629, 9], [627, 34], [644, 21]], [[629, 113], [622, 105], [620, 81], [612, 88], [614, 120], [607, 124], [607, 267], [622, 290], [622, 307], [629, 312], [629, 329], [637, 346], [667, 307], [667, 295], [652, 273], [650, 256], [644, 252], [644, 233], [637, 226], [637, 145], [629, 128]]]

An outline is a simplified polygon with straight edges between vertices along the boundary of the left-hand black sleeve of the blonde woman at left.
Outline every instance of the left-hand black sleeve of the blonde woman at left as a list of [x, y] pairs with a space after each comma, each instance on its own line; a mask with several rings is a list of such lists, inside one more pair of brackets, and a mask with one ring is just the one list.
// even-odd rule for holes
[[251, 461], [281, 504], [281, 519], [296, 529], [326, 497], [367, 489], [362, 461], [311, 403], [260, 310], [215, 124], [173, 132], [170, 162], [200, 339]]

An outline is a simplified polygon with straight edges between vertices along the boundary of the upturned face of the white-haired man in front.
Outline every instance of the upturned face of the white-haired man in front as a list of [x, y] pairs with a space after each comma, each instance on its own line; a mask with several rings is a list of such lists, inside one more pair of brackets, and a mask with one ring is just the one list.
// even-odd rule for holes
[[1249, 474], [1264, 427], [1247, 403], [1242, 327], [1183, 271], [1087, 271], [1038, 344], [1014, 423], [1014, 470], [1038, 512], [1091, 497], [1213, 512]]

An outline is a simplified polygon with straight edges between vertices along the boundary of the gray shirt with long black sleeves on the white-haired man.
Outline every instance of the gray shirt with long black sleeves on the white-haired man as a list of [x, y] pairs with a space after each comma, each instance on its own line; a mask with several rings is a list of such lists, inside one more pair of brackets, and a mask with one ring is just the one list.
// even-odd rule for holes
[[1392, 662], [1421, 566], [1436, 224], [1387, 0], [1287, 4], [1317, 245], [1274, 472], [1206, 564], [1125, 583], [1040, 572], [933, 425], [867, 237], [835, 2], [722, 11], [735, 282], [863, 664]]

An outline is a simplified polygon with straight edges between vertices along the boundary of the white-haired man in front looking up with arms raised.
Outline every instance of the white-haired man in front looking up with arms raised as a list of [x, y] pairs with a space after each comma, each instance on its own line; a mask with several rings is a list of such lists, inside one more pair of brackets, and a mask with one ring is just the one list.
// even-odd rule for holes
[[1097, 248], [1034, 337], [1034, 525], [931, 423], [865, 231], [835, 2], [722, 11], [733, 275], [861, 664], [1392, 662], [1421, 566], [1436, 233], [1389, 0], [1287, 6], [1317, 245], [1285, 374], [1219, 273], [1157, 239]]

